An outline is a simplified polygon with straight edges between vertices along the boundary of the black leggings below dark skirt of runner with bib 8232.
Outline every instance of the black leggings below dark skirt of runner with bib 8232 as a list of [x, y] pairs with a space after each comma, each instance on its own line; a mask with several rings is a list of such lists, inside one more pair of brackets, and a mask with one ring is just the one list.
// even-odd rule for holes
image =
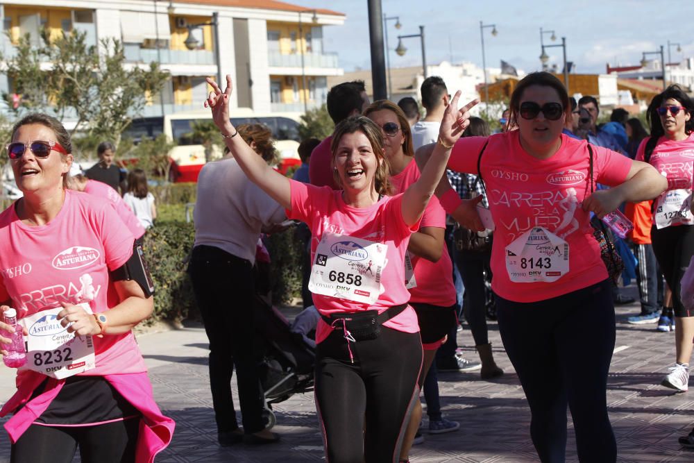
[[85, 463], [135, 461], [139, 418], [95, 426], [33, 424], [12, 445], [10, 463], [70, 463], [77, 446]]

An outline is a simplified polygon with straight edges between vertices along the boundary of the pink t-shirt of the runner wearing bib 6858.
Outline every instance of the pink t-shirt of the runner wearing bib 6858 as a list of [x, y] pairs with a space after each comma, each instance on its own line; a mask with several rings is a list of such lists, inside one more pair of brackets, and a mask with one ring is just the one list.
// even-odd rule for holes
[[[403, 262], [409, 235], [419, 228], [419, 224], [410, 228], [403, 221], [403, 195], [384, 196], [369, 208], [353, 208], [344, 203], [341, 190], [290, 181], [291, 210], [287, 210], [287, 217], [301, 220], [309, 226], [312, 234], [311, 262], [314, 262], [316, 248], [326, 232], [368, 239], [388, 246], [388, 261], [381, 273], [381, 284], [385, 291], [373, 305], [314, 294], [313, 302], [318, 311], [326, 316], [362, 310], [382, 312], [393, 305], [407, 303], [409, 292], [405, 288]], [[404, 332], [419, 331], [417, 315], [409, 306], [383, 325]], [[316, 330], [316, 342], [323, 341], [329, 334], [330, 326], [321, 319]]]

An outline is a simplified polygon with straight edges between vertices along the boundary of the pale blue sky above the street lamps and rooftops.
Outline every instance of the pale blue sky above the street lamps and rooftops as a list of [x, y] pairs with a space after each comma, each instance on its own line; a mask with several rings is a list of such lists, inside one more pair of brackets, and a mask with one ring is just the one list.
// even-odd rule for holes
[[[325, 26], [324, 49], [339, 53], [345, 71], [369, 69], [369, 20], [366, 0], [289, 0], [307, 8], [330, 8], [347, 15], [344, 26]], [[498, 67], [505, 60], [518, 69], [534, 71], [541, 66], [540, 28], [554, 30], [557, 41], [545, 35], [545, 44], [560, 44], [566, 37], [567, 60], [579, 73], [605, 71], [605, 64], [638, 65], [642, 51], [657, 51], [667, 41], [682, 44], [682, 53], [671, 47], [672, 61], [694, 56], [694, 1], [691, 0], [382, 0], [382, 11], [399, 16], [398, 31], [388, 22], [389, 46], [397, 35], [419, 33], [425, 26], [428, 64], [441, 60], [471, 61], [482, 66], [480, 20], [496, 24], [498, 35], [485, 29], [486, 65]], [[407, 54], [391, 51], [391, 67], [421, 65], [418, 39], [404, 41]], [[550, 64], [559, 63], [561, 47], [547, 49]], [[649, 56], [656, 58], [656, 56]]]

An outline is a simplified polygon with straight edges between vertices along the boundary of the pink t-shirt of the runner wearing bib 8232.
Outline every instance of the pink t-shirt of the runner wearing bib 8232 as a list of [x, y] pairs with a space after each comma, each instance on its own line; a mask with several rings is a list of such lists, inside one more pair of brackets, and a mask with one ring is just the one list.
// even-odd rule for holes
[[[18, 319], [60, 302], [108, 310], [118, 303], [108, 272], [130, 258], [134, 241], [110, 204], [90, 194], [65, 190], [58, 215], [35, 227], [13, 204], [0, 214], [0, 301], [11, 298]], [[146, 371], [132, 332], [94, 337], [94, 351], [96, 368], [84, 376]]]

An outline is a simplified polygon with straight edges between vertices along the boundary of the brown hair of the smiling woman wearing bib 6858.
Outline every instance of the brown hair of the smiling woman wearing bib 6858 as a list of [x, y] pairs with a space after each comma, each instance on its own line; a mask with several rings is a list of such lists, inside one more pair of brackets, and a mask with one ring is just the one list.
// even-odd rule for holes
[[330, 143], [330, 151], [332, 151], [332, 177], [335, 183], [342, 186], [342, 179], [337, 174], [337, 169], [335, 169], [337, 146], [342, 135], [355, 132], [361, 132], [366, 135], [366, 138], [368, 138], [371, 143], [371, 150], [376, 156], [378, 167], [376, 167], [376, 172], [373, 176], [376, 192], [378, 194], [390, 194], [391, 187], [388, 181], [390, 167], [388, 165], [388, 160], [383, 155], [381, 128], [377, 126], [374, 121], [364, 116], [348, 117], [335, 126], [335, 132], [332, 133], [332, 142]]

